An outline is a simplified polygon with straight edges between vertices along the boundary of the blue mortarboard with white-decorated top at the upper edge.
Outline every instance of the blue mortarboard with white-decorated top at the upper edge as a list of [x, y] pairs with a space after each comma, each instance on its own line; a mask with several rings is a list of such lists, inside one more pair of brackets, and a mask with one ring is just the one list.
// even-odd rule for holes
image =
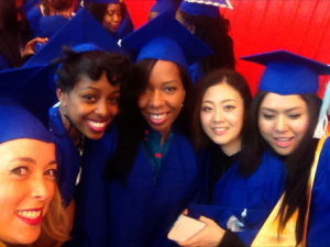
[[209, 18], [219, 18], [219, 7], [232, 9], [229, 0], [186, 0], [183, 1], [179, 9], [188, 14], [204, 15]]

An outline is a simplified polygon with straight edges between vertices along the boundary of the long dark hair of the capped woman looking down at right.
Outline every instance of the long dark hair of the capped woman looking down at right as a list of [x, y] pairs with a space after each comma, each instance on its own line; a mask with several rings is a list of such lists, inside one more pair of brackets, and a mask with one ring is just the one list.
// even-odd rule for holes
[[[241, 176], [252, 175], [260, 166], [265, 149], [276, 154], [262, 137], [258, 130], [258, 110], [268, 92], [258, 91], [252, 101], [246, 119], [246, 127], [242, 136], [242, 150], [239, 165]], [[296, 224], [296, 239], [300, 243], [304, 234], [305, 216], [307, 211], [307, 183], [314, 161], [318, 139], [312, 138], [317, 126], [321, 100], [311, 93], [300, 94], [307, 104], [308, 127], [297, 148], [287, 157], [280, 157], [287, 169], [285, 195], [279, 210], [278, 233], [284, 229], [293, 213], [298, 209]]]

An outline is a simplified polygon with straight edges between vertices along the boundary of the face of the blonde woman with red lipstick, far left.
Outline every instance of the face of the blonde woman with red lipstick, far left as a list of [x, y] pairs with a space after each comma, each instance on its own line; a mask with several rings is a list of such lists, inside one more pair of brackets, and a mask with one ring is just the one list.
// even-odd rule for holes
[[36, 139], [0, 144], [0, 242], [31, 244], [55, 191], [55, 145]]

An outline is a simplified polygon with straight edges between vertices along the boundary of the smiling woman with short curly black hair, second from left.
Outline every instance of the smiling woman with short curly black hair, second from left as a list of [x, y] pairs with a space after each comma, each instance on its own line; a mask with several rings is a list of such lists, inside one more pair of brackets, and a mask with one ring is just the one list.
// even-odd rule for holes
[[100, 139], [106, 133], [118, 113], [120, 85], [131, 64], [118, 53], [72, 49], [62, 63], [56, 80], [61, 105], [50, 110], [50, 130], [56, 139], [61, 194], [69, 204], [79, 181], [85, 138]]

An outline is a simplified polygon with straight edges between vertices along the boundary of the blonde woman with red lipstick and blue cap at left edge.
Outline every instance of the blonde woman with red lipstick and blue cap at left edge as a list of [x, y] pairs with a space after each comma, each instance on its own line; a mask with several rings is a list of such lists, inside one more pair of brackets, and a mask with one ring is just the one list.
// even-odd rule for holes
[[18, 105], [1, 101], [0, 114], [0, 242], [32, 244], [42, 231], [66, 240], [68, 218], [55, 181], [52, 135]]

